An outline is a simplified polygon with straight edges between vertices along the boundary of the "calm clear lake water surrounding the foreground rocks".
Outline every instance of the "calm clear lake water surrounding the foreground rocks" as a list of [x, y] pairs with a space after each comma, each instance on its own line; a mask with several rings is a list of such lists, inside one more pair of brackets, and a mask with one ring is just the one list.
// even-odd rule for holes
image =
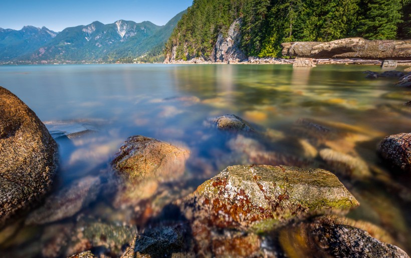
[[[376, 146], [387, 135], [410, 131], [411, 108], [403, 103], [411, 100], [411, 91], [393, 87], [396, 79], [366, 79], [362, 73], [366, 70], [381, 69], [343, 65], [314, 69], [292, 69], [291, 65], [1, 66], [0, 86], [23, 100], [58, 142], [55, 193], [86, 177], [103, 175], [110, 181], [109, 163], [119, 147], [129, 136], [144, 135], [191, 152], [184, 175], [164, 186], [168, 202], [192, 192], [229, 165], [268, 162], [321, 167], [334, 172], [361, 203], [348, 217], [380, 226], [392, 243], [409, 253], [411, 175], [391, 173], [376, 155]], [[249, 121], [264, 140], [219, 132], [204, 123], [225, 114]], [[323, 139], [320, 132], [310, 129], [313, 124], [327, 128], [332, 137]], [[93, 132], [71, 140], [65, 137], [84, 130]], [[268, 155], [275, 153], [274, 158], [258, 158], [253, 155], [256, 148]], [[352, 160], [336, 165], [324, 153], [320, 155], [323, 149]], [[136, 209], [117, 209], [107, 200], [104, 192], [112, 187], [104, 180], [99, 197], [70, 217], [45, 224], [34, 219], [35, 225], [25, 225], [26, 217], [22, 217], [0, 231], [0, 256], [73, 254], [73, 237], [61, 232], [76, 232], [81, 223], [141, 228], [145, 220], [133, 213], [138, 213]]]

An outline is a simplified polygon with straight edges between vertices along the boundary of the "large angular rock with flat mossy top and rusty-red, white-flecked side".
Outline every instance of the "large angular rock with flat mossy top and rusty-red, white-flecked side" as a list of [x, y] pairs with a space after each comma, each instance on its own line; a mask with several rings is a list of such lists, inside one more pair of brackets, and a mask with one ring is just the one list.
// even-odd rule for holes
[[265, 219], [276, 223], [358, 205], [329, 171], [268, 165], [227, 167], [183, 202], [189, 219], [223, 228], [257, 229], [257, 222]]

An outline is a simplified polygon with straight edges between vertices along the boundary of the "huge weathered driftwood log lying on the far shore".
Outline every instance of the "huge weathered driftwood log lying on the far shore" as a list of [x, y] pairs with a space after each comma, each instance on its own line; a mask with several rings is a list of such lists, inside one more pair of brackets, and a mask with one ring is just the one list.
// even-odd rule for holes
[[331, 42], [291, 42], [281, 46], [283, 56], [291, 57], [408, 60], [411, 56], [411, 40], [349, 38]]

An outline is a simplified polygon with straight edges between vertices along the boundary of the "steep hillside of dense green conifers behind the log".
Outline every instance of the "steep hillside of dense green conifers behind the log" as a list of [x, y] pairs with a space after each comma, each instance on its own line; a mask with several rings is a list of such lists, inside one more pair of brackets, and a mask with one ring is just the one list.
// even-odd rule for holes
[[176, 60], [210, 58], [219, 33], [241, 19], [241, 49], [248, 56], [278, 57], [280, 44], [411, 38], [411, 0], [194, 0], [166, 44]]

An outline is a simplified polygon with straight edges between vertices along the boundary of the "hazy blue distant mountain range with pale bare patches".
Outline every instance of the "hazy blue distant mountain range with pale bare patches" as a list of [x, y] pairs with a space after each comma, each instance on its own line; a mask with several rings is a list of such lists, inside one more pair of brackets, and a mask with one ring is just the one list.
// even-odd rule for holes
[[0, 28], [0, 63], [104, 63], [158, 55], [185, 11], [166, 25], [98, 21], [57, 33], [46, 27]]

